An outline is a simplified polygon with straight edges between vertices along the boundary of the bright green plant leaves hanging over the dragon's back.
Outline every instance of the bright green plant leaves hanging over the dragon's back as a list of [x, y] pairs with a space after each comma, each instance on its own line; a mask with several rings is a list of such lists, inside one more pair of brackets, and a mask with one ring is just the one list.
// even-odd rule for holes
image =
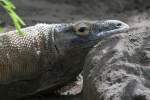
[[21, 27], [25, 25], [23, 20], [15, 13], [16, 7], [11, 2], [11, 0], [0, 0], [0, 6], [2, 6], [9, 16], [11, 17], [16, 29], [18, 30], [18, 34], [24, 35], [23, 32], [21, 32]]

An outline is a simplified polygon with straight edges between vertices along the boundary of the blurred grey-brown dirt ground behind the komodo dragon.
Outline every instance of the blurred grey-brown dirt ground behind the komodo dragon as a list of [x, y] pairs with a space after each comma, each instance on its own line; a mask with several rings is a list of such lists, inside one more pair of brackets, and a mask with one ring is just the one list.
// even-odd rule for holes
[[[80, 19], [118, 19], [129, 24], [130, 31], [150, 29], [149, 0], [12, 0], [17, 13], [27, 26], [36, 23], [64, 23]], [[5, 26], [11, 19], [0, 8], [0, 19]], [[51, 100], [80, 100], [81, 96], [53, 97]], [[38, 100], [38, 99], [34, 99]], [[45, 99], [41, 99], [45, 100]]]

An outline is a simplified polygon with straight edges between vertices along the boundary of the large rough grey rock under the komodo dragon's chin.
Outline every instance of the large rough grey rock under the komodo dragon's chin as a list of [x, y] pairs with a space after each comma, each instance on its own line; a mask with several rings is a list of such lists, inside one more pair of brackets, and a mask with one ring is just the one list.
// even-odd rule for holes
[[99, 42], [83, 71], [84, 100], [150, 100], [150, 32]]

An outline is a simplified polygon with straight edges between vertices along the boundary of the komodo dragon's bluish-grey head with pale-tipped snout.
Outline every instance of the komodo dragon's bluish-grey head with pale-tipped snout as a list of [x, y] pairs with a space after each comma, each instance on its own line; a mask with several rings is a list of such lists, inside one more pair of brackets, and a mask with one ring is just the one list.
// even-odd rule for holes
[[60, 54], [68, 49], [91, 48], [98, 41], [129, 29], [126, 23], [119, 20], [78, 21], [55, 24], [53, 27], [53, 42]]

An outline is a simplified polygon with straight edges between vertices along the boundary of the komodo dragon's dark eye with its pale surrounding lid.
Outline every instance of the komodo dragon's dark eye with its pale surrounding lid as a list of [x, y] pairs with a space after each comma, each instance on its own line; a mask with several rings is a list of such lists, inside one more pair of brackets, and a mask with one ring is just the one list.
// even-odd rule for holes
[[87, 23], [78, 23], [74, 25], [74, 29], [77, 35], [86, 36], [89, 34], [90, 27]]

